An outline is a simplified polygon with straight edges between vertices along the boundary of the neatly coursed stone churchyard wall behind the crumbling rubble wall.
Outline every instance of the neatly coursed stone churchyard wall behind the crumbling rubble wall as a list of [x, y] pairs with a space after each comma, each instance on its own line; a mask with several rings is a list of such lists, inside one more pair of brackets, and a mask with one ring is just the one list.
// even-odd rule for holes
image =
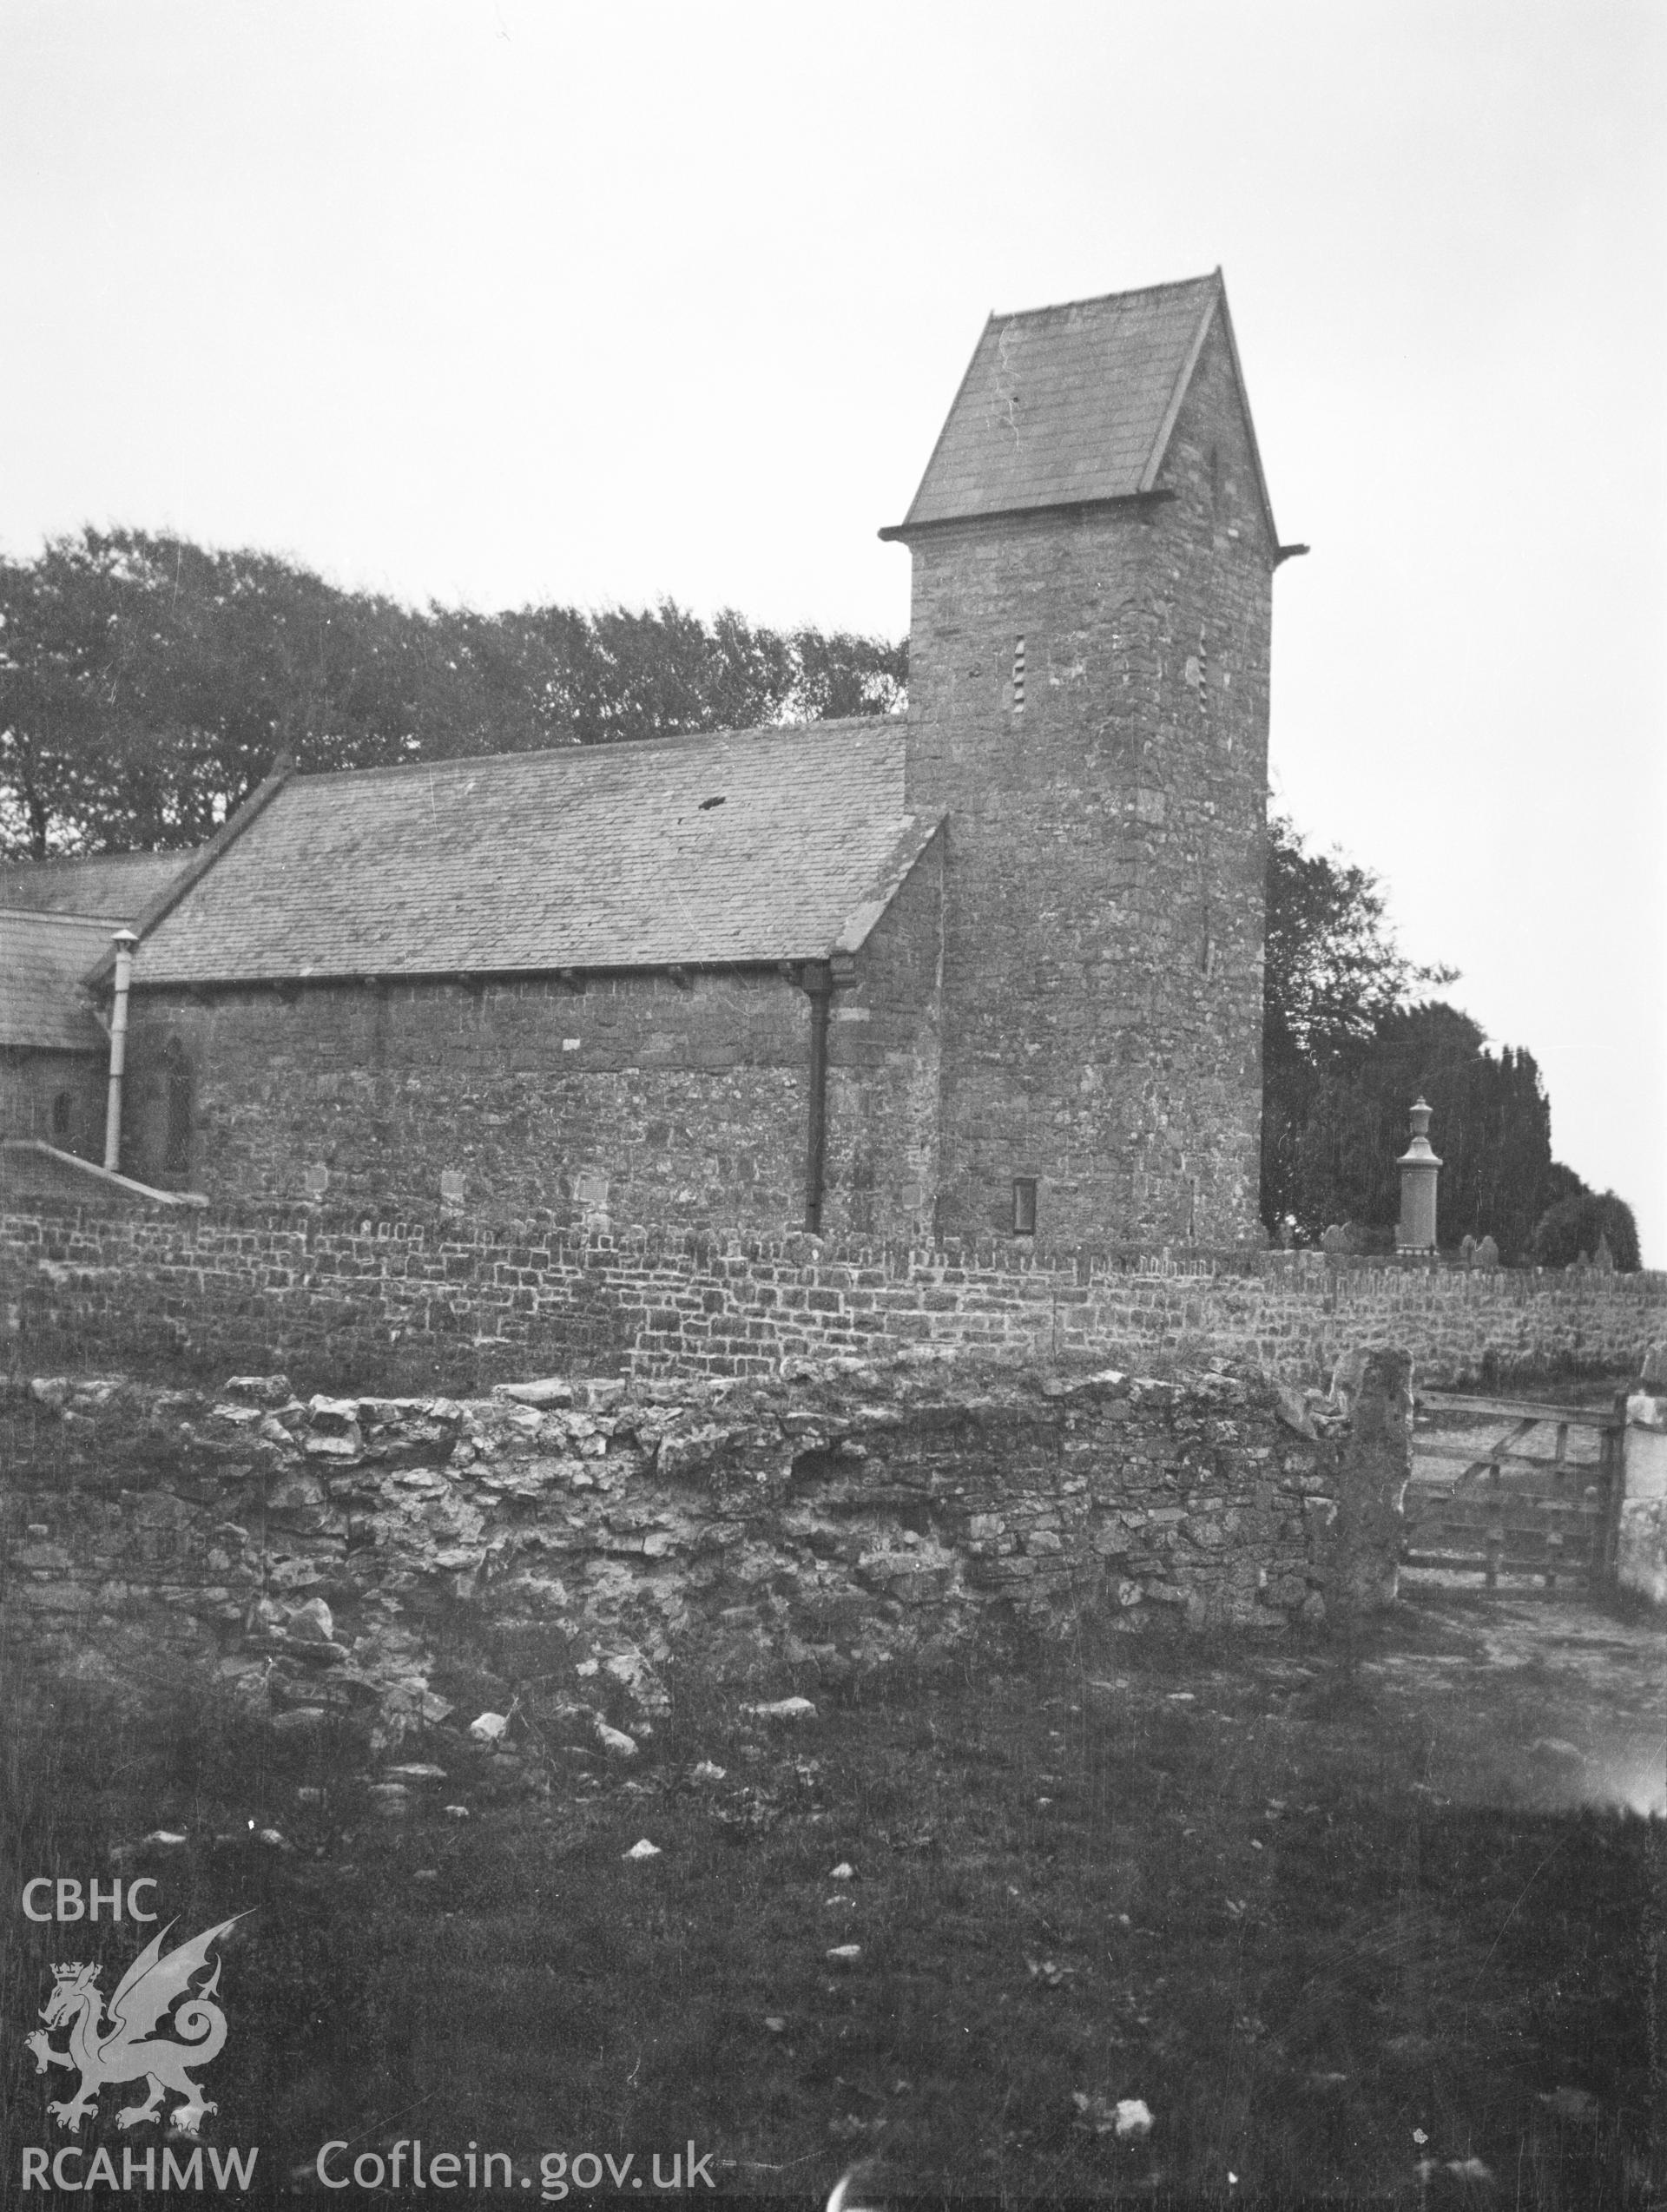
[[1357, 1349], [1419, 1380], [1634, 1367], [1667, 1274], [1464, 1270], [1318, 1252], [911, 1250], [292, 1214], [0, 1214], [11, 1365], [184, 1356], [310, 1383], [489, 1387], [575, 1363], [767, 1376], [918, 1345], [1256, 1365], [1318, 1383]]

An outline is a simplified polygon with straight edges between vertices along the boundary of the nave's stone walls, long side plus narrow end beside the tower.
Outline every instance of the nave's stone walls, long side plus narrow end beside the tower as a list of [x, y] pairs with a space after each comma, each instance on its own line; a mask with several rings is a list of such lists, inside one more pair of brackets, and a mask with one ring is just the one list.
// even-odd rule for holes
[[[940, 960], [933, 845], [836, 978], [829, 1230], [931, 1223]], [[809, 1031], [778, 969], [139, 989], [122, 1166], [214, 1203], [780, 1234], [805, 1221]]]

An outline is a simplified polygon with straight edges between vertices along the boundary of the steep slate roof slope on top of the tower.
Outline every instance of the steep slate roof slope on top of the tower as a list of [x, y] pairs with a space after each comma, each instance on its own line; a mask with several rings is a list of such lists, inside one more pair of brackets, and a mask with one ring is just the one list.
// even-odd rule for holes
[[[1234, 347], [1220, 270], [993, 314], [909, 515], [880, 535], [1152, 491], [1216, 321]], [[1254, 449], [1249, 407], [1245, 427]]]

